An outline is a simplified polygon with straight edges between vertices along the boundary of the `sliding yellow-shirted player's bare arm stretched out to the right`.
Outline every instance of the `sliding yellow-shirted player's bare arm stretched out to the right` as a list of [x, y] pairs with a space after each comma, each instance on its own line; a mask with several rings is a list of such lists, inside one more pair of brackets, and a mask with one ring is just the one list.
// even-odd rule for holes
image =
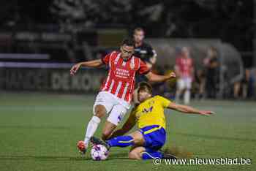
[[169, 106], [167, 107], [172, 110], [176, 110], [181, 113], [193, 113], [193, 114], [199, 114], [199, 115], [212, 115], [214, 112], [210, 110], [197, 110], [194, 107], [189, 107], [186, 105], [176, 104], [171, 102]]

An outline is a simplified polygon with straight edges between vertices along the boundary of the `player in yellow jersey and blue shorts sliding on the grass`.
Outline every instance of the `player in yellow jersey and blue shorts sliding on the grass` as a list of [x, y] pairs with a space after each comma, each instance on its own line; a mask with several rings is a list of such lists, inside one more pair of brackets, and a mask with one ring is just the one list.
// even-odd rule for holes
[[[138, 107], [132, 110], [124, 126], [113, 132], [109, 140], [104, 142], [97, 137], [91, 137], [91, 142], [105, 145], [108, 149], [131, 145], [130, 159], [173, 159], [175, 156], [159, 151], [165, 145], [166, 139], [164, 109], [199, 115], [213, 114], [208, 110], [197, 110], [193, 107], [175, 104], [162, 96], [152, 96], [152, 88], [146, 82], [139, 84], [138, 99], [140, 102]], [[135, 123], [138, 123], [138, 130], [132, 134], [123, 135], [129, 132]]]

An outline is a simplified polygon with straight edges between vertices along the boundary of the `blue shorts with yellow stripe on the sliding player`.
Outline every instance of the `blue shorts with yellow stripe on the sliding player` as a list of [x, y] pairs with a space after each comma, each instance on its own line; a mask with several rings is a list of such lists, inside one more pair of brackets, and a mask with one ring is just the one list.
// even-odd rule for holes
[[166, 132], [162, 126], [145, 126], [140, 129], [140, 132], [143, 134], [145, 140], [145, 144], [143, 146], [146, 148], [146, 151], [158, 151], [163, 145], [165, 145]]

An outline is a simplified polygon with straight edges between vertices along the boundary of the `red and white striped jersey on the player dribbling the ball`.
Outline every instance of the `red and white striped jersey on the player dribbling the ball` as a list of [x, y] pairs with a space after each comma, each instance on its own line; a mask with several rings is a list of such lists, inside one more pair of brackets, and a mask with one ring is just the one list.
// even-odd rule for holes
[[150, 71], [146, 63], [136, 56], [124, 61], [121, 53], [116, 51], [102, 58], [102, 62], [109, 66], [109, 70], [101, 91], [108, 91], [119, 99], [131, 102], [135, 88], [135, 74], [138, 72], [140, 75], [146, 75]]

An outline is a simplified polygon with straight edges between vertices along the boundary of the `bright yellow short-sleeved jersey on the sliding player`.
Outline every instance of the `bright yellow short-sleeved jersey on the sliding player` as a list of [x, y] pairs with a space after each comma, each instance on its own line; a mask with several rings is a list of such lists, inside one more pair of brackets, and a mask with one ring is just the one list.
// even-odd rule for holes
[[159, 125], [165, 129], [164, 110], [169, 104], [170, 100], [162, 96], [154, 96], [140, 103], [130, 115], [136, 118], [139, 129], [151, 125]]

